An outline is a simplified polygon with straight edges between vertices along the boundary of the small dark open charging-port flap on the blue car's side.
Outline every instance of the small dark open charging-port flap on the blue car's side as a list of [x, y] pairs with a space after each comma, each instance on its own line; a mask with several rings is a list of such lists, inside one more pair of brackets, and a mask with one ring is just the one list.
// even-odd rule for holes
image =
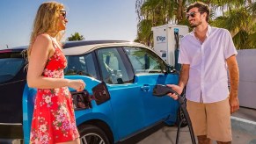
[[102, 82], [92, 88], [93, 99], [96, 104], [102, 104], [110, 99], [109, 92], [106, 87], [106, 83]]

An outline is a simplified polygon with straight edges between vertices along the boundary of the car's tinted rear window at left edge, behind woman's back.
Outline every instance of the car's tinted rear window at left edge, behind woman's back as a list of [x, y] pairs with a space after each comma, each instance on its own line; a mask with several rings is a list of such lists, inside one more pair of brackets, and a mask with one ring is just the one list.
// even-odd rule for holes
[[0, 54], [0, 83], [11, 80], [26, 65], [20, 52]]

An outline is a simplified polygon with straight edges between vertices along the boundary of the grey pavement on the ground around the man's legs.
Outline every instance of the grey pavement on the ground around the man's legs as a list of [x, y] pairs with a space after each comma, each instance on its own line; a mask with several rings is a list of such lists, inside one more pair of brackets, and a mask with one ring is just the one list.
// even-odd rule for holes
[[[256, 110], [240, 107], [231, 116], [232, 144], [256, 144]], [[175, 144], [176, 126], [162, 126], [155, 133], [151, 133], [138, 144]], [[134, 143], [134, 142], [132, 142]], [[191, 144], [188, 127], [181, 128], [179, 144]], [[213, 141], [216, 144], [216, 141]]]

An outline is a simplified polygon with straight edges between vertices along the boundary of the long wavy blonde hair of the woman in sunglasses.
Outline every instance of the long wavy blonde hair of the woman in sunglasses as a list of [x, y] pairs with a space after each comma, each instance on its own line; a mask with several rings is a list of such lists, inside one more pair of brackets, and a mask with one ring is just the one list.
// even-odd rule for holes
[[27, 57], [29, 58], [36, 37], [42, 33], [57, 32], [56, 40], [60, 43], [62, 33], [58, 30], [58, 21], [60, 11], [64, 9], [64, 5], [57, 2], [46, 2], [40, 4], [33, 21], [33, 31], [30, 36], [29, 47], [27, 49]]

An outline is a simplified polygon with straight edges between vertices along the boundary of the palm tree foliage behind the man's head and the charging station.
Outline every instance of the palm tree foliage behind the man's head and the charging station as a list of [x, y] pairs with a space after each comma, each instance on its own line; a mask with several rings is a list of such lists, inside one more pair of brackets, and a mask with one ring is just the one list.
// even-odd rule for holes
[[[167, 23], [189, 25], [184, 11], [197, 0], [136, 0], [137, 38], [147, 44], [151, 27]], [[256, 48], [256, 0], [201, 0], [211, 11], [209, 24], [230, 31], [238, 49]], [[221, 12], [221, 13], [220, 13]]]

